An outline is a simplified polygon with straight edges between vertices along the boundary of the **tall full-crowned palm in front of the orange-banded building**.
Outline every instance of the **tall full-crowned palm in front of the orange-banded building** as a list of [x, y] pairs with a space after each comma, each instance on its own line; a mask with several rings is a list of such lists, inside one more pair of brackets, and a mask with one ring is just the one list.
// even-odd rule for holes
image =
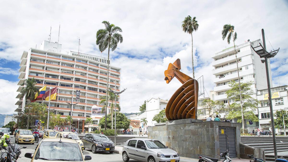
[[[96, 34], [96, 44], [99, 46], [99, 50], [102, 53], [108, 47], [108, 75], [107, 75], [107, 89], [108, 89], [108, 81], [109, 81], [109, 52], [114, 51], [117, 48], [117, 44], [123, 42], [123, 37], [120, 33], [122, 29], [120, 27], [115, 26], [114, 24], [110, 24], [109, 21], [102, 22], [105, 25], [105, 29], [99, 29]], [[108, 105], [108, 91], [106, 90], [106, 105]], [[106, 107], [107, 109], [107, 107]], [[107, 110], [105, 112], [105, 130], [107, 128]]]

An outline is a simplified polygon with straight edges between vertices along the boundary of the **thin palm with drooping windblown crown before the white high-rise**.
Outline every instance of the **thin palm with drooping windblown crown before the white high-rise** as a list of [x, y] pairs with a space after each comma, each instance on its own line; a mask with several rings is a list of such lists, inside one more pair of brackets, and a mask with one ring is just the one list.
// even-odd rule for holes
[[237, 39], [237, 33], [234, 33], [234, 26], [231, 24], [225, 24], [222, 30], [222, 39], [224, 40], [227, 36], [227, 42], [230, 44], [230, 40], [232, 38], [234, 44], [234, 54], [236, 57], [236, 64], [237, 64], [237, 74], [238, 74], [238, 84], [239, 84], [239, 93], [240, 93], [240, 105], [241, 105], [241, 116], [242, 116], [242, 131], [244, 132], [244, 114], [243, 114], [243, 105], [242, 105], [242, 93], [241, 93], [241, 85], [240, 85], [240, 76], [239, 76], [239, 68], [238, 68], [238, 59], [236, 54], [236, 46], [235, 40]]

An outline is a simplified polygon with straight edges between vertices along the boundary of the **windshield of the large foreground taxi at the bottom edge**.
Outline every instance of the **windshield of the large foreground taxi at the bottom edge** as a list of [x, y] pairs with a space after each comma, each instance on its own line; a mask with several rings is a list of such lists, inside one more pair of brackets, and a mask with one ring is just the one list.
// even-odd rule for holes
[[[73, 154], [71, 154], [73, 152]], [[67, 142], [41, 142], [35, 160], [59, 160], [65, 159], [67, 161], [83, 161], [79, 144]], [[65, 161], [59, 160], [59, 161]]]

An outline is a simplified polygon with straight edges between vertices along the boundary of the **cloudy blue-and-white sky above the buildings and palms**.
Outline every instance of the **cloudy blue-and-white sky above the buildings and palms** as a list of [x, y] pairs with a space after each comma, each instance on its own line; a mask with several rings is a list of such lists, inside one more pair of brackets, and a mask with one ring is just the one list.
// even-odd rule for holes
[[[19, 63], [23, 51], [39, 48], [48, 40], [62, 44], [62, 53], [80, 52], [107, 57], [96, 46], [96, 32], [106, 20], [122, 28], [123, 43], [110, 52], [111, 64], [120, 67], [122, 112], [139, 112], [152, 97], [170, 99], [181, 83], [169, 84], [164, 70], [181, 60], [181, 71], [192, 76], [191, 35], [181, 24], [188, 15], [198, 20], [193, 33], [195, 78], [203, 75], [204, 87], [213, 90], [211, 57], [231, 47], [221, 38], [224, 24], [235, 26], [236, 45], [262, 39], [268, 50], [280, 48], [270, 59], [273, 86], [288, 80], [288, 1], [1, 1], [0, 5], [0, 114], [17, 106]], [[286, 16], [285, 16], [286, 15]], [[206, 94], [205, 97], [208, 95]]]

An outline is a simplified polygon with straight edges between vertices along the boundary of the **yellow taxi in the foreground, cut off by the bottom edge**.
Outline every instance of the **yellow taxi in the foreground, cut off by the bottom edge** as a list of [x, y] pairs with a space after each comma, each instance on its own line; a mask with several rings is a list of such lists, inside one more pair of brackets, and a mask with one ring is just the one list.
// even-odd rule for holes
[[[72, 153], [73, 152], [73, 153]], [[44, 138], [37, 146], [34, 155], [26, 153], [26, 158], [31, 162], [43, 161], [78, 161], [84, 162], [91, 160], [91, 156], [82, 153], [79, 144], [68, 138]]]

